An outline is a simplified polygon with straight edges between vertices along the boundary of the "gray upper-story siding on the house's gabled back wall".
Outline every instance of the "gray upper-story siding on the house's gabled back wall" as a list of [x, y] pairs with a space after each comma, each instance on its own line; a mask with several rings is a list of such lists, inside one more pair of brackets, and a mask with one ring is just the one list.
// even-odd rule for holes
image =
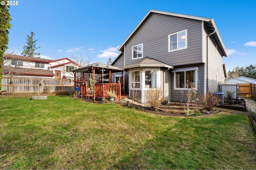
[[[168, 35], [187, 29], [187, 49], [168, 52]], [[131, 64], [132, 46], [143, 43], [143, 57], [177, 66], [202, 62], [202, 22], [162, 14], [150, 14], [127, 41], [125, 65]]]

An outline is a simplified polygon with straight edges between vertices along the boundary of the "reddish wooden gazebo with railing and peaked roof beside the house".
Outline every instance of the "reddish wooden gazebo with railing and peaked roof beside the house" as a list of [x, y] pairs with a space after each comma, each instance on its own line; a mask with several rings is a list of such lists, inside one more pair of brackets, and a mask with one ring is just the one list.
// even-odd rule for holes
[[[96, 81], [94, 87], [96, 98], [108, 97], [107, 92], [112, 91], [116, 93], [117, 100], [120, 100], [123, 91], [123, 71], [122, 68], [99, 62], [77, 68], [72, 70], [74, 72], [74, 90], [80, 86], [80, 95], [82, 95], [82, 98], [92, 96], [90, 94], [91, 90], [89, 90], [91, 79], [92, 82]], [[111, 83], [111, 78], [114, 76], [112, 73], [115, 72], [122, 72], [121, 82]]]

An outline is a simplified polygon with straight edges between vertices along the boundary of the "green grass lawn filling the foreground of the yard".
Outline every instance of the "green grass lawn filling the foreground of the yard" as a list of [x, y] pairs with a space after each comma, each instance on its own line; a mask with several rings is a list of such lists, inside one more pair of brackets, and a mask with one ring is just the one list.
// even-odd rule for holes
[[256, 169], [256, 134], [248, 117], [225, 112], [0, 98], [0, 169]]

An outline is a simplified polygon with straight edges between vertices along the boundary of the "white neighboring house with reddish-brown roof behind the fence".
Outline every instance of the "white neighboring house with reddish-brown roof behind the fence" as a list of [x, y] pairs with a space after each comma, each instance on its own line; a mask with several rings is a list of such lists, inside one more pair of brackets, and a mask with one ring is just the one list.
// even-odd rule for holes
[[68, 58], [48, 60], [4, 54], [3, 74], [25, 77], [74, 79], [74, 74], [71, 70], [78, 67], [81, 66]]

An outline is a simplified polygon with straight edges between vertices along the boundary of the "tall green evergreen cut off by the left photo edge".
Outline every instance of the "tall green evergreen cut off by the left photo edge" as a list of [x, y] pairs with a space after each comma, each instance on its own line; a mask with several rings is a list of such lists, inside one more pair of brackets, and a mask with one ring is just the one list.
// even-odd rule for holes
[[[6, 0], [4, 0], [6, 2]], [[4, 62], [4, 52], [8, 48], [8, 33], [9, 29], [11, 28], [10, 20], [11, 16], [9, 14], [9, 6], [0, 5], [0, 90], [2, 89], [1, 80], [3, 75], [3, 62]]]

